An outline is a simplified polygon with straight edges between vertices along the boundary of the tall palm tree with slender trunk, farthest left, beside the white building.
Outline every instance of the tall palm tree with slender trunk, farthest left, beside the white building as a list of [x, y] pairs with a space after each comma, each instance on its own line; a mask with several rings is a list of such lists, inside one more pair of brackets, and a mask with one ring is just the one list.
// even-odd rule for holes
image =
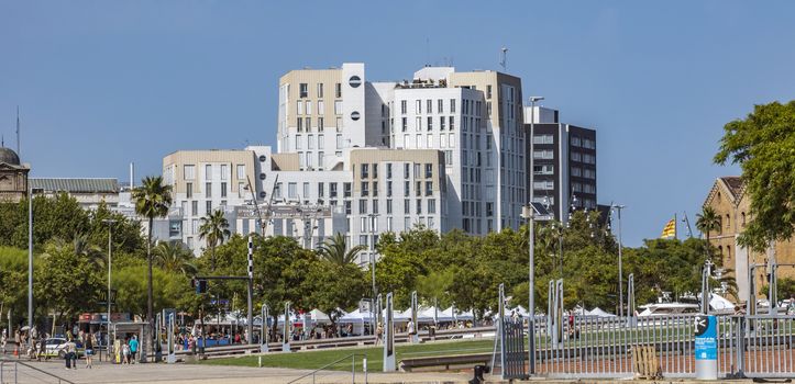
[[165, 217], [168, 214], [168, 206], [172, 204], [172, 185], [163, 184], [159, 176], [147, 176], [142, 180], [141, 187], [132, 191], [132, 199], [135, 201], [135, 213], [148, 219], [146, 235], [146, 262], [148, 264], [147, 298], [146, 298], [146, 321], [152, 325], [152, 227], [155, 217]]

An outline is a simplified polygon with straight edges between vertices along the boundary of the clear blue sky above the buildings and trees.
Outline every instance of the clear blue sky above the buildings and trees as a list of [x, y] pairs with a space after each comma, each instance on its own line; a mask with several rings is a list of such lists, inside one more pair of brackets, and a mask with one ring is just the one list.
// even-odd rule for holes
[[[300, 16], [299, 16], [300, 15]], [[178, 149], [273, 145], [278, 78], [364, 61], [499, 69], [598, 132], [598, 195], [637, 246], [700, 208], [725, 123], [793, 98], [791, 1], [0, 0], [0, 132], [35, 177], [139, 177]], [[683, 233], [683, 230], [681, 231]]]

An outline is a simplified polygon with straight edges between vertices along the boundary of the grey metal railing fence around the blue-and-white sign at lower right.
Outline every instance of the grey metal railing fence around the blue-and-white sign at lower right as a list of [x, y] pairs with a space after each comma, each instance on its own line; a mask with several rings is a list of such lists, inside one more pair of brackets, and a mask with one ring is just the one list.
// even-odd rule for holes
[[[623, 379], [651, 348], [664, 377], [695, 377], [696, 315], [563, 317], [537, 321], [535, 375]], [[718, 316], [718, 375], [793, 377], [795, 316]]]

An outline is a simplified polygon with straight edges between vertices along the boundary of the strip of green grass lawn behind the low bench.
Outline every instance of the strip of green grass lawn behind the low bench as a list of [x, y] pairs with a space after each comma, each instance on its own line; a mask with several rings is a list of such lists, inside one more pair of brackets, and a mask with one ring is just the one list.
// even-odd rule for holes
[[[494, 339], [478, 339], [465, 341], [439, 341], [422, 345], [399, 345], [396, 346], [396, 352], [397, 361], [399, 362], [401, 359], [420, 357], [488, 353], [492, 352], [493, 348]], [[292, 353], [267, 353], [262, 355], [262, 364], [263, 366], [314, 370], [353, 353], [358, 354], [355, 360], [357, 372], [363, 372], [362, 358], [365, 355], [367, 357], [367, 369], [369, 371], [380, 371], [380, 368], [384, 364], [383, 347], [329, 349]], [[200, 361], [199, 363], [211, 365], [257, 366], [258, 358], [260, 355], [246, 355], [239, 358], [210, 359]], [[339, 362], [327, 369], [350, 371], [351, 359]]]

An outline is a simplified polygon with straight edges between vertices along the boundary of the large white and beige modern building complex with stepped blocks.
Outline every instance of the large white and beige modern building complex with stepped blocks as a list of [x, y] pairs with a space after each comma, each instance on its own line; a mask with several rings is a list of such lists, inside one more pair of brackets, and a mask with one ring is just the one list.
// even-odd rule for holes
[[473, 235], [518, 228], [530, 150], [521, 100], [519, 78], [490, 70], [424, 67], [400, 81], [368, 81], [360, 63], [291, 70], [279, 79], [275, 153], [164, 158], [175, 188], [170, 227], [197, 252], [200, 218], [216, 208], [233, 231], [265, 223], [266, 234], [306, 247], [335, 233], [372, 246], [380, 233], [415, 225]]

